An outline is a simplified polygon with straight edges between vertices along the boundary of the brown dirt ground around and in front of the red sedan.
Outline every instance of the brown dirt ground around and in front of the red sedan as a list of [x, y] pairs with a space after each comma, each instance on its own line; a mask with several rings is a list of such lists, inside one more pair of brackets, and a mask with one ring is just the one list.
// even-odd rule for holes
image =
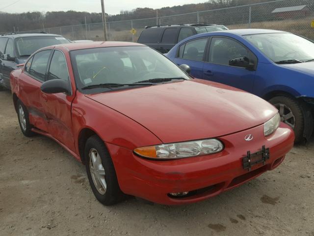
[[314, 140], [272, 172], [204, 202], [97, 202], [85, 168], [49, 138], [26, 138], [0, 91], [0, 236], [314, 236]]

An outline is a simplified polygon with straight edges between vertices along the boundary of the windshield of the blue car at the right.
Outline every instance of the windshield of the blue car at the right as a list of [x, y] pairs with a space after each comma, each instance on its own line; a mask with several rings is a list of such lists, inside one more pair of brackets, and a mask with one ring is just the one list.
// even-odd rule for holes
[[314, 43], [292, 33], [244, 35], [274, 62], [305, 62], [314, 59]]

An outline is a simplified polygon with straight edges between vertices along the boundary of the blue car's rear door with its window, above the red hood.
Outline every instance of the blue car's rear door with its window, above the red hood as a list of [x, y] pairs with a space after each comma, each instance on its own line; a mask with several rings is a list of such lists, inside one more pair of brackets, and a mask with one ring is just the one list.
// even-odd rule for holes
[[208, 37], [197, 38], [186, 42], [179, 47], [178, 55], [174, 62], [178, 65], [187, 64], [191, 68], [191, 75], [203, 78], [203, 65], [208, 44]]

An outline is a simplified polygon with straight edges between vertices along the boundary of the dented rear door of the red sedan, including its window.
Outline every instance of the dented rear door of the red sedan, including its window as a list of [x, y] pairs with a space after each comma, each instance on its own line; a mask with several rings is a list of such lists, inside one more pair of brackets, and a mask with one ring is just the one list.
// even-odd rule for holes
[[45, 132], [48, 131], [48, 122], [41, 99], [44, 94], [40, 87], [46, 78], [51, 52], [52, 50], [43, 50], [28, 59], [18, 82], [19, 98], [28, 110], [30, 123]]

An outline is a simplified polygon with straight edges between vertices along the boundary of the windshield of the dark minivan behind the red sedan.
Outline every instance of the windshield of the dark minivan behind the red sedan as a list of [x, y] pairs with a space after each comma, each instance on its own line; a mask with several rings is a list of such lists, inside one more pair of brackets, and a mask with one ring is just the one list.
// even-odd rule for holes
[[38, 49], [70, 41], [61, 36], [31, 36], [17, 38], [15, 43], [19, 57], [29, 57]]

